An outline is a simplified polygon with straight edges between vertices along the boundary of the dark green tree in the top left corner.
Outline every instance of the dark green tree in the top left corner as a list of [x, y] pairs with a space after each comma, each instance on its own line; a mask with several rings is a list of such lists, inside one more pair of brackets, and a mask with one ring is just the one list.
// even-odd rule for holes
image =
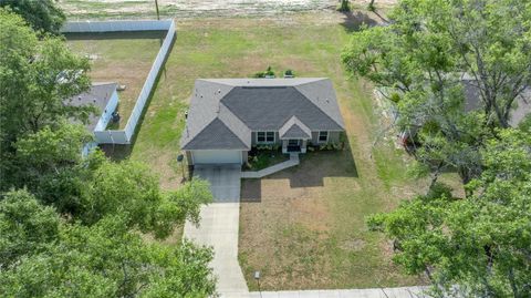
[[9, 7], [20, 14], [35, 31], [58, 34], [66, 17], [54, 0], [0, 0], [0, 7]]

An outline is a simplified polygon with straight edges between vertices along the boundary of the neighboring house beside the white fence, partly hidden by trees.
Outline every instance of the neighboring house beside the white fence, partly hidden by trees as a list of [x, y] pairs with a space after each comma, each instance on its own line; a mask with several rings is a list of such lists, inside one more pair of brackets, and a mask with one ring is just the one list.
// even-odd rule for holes
[[86, 130], [94, 135], [94, 141], [83, 146], [83, 156], [87, 155], [91, 150], [101, 143], [95, 132], [105, 131], [113, 115], [116, 115], [114, 113], [118, 106], [118, 93], [116, 89], [116, 83], [94, 83], [87, 92], [65, 101], [66, 104], [74, 106], [92, 104], [98, 110], [98, 113], [91, 115], [88, 122], [85, 124]]

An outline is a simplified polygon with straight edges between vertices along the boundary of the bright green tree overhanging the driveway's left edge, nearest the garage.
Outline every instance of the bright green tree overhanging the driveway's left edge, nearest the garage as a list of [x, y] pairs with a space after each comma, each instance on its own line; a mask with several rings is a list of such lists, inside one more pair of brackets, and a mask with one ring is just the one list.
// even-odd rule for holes
[[200, 206], [211, 201], [205, 181], [192, 179], [175, 192], [162, 193], [158, 177], [146, 165], [104, 161], [91, 173], [81, 212], [73, 216], [91, 225], [106, 215], [122, 214], [129, 228], [165, 238], [186, 219], [198, 223]]

